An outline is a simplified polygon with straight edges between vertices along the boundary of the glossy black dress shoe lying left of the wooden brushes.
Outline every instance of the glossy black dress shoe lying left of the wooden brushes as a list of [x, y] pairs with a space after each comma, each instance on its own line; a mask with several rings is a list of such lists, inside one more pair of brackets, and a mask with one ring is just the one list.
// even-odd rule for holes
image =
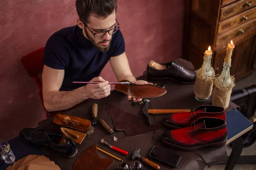
[[73, 158], [77, 154], [76, 143], [66, 136], [41, 129], [24, 128], [20, 131], [20, 137], [32, 147], [50, 147], [68, 158]]

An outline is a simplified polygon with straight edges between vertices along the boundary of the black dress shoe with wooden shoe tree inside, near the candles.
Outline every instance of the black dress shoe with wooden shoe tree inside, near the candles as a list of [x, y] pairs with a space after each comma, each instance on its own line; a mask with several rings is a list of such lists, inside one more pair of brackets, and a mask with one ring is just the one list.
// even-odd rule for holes
[[147, 76], [150, 81], [161, 82], [174, 80], [178, 83], [192, 84], [195, 82], [196, 74], [194, 70], [189, 70], [179, 65], [177, 62], [159, 63], [165, 65], [166, 69], [158, 70], [147, 66]]

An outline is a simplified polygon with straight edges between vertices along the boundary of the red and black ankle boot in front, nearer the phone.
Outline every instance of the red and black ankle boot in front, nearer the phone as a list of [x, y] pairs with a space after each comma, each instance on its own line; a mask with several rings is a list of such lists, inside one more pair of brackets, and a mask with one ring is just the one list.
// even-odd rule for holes
[[164, 144], [187, 151], [221, 146], [226, 141], [226, 121], [211, 117], [200, 118], [189, 127], [169, 130], [162, 135]]

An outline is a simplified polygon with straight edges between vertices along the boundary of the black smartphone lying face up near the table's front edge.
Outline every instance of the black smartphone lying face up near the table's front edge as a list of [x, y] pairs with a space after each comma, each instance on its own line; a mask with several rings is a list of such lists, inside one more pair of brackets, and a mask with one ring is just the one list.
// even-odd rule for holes
[[151, 149], [149, 156], [173, 167], [177, 167], [181, 159], [181, 156], [177, 153], [173, 153], [156, 145]]

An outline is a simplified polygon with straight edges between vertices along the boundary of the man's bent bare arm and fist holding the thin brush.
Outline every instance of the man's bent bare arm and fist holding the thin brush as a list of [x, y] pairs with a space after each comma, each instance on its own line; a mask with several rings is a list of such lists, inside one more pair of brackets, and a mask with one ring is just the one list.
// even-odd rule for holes
[[44, 107], [47, 111], [61, 111], [73, 107], [86, 99], [100, 99], [110, 94], [110, 85], [101, 77], [91, 81], [99, 84], [88, 84], [73, 91], [59, 91], [64, 78], [64, 70], [44, 65], [42, 74]]

